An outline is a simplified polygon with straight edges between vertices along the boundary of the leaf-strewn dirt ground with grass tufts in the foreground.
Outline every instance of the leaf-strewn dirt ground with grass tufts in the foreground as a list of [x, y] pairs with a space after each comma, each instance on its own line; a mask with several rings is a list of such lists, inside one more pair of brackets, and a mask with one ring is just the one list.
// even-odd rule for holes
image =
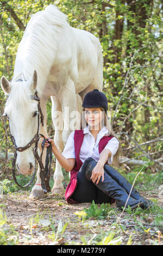
[[[153, 198], [163, 208], [163, 198], [158, 198], [159, 191], [150, 192], [150, 196], [147, 192], [141, 194]], [[74, 212], [89, 208], [91, 203], [69, 205], [64, 194], [50, 193], [45, 198], [30, 199], [27, 191], [5, 194], [0, 199], [0, 205], [8, 224], [16, 230], [12, 236], [15, 236], [18, 245], [82, 245], [81, 237], [89, 241], [96, 234], [96, 239], [101, 240], [109, 231], [114, 231], [115, 237], [121, 236], [121, 245], [126, 245], [129, 238], [131, 245], [163, 245], [163, 226], [155, 227], [155, 216], [149, 213], [142, 218], [142, 215], [134, 217], [124, 212], [120, 222], [116, 223], [121, 214], [117, 211], [105, 220], [91, 218], [82, 222]], [[116, 205], [111, 207], [114, 209]], [[53, 223], [57, 230], [60, 221], [62, 225], [67, 223], [67, 227], [57, 237], [49, 223]]]

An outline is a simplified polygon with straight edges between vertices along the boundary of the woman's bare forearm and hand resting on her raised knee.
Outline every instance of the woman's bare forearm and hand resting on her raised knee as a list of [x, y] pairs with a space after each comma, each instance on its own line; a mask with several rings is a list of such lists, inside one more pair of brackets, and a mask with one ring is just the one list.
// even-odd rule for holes
[[111, 157], [111, 151], [109, 149], [103, 149], [101, 154], [99, 154], [99, 160], [95, 166], [95, 168], [92, 170], [91, 179], [93, 183], [96, 182], [98, 184], [99, 180], [102, 176], [102, 181], [104, 181], [104, 164], [108, 160], [108, 157]]

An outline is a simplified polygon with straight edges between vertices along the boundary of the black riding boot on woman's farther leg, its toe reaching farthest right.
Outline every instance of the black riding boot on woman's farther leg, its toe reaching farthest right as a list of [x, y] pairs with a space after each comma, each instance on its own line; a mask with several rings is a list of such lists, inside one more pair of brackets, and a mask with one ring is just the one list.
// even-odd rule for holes
[[[132, 185], [130, 184], [130, 182], [127, 181], [126, 178], [124, 178], [119, 172], [117, 172], [117, 170], [109, 166], [109, 164], [104, 164], [104, 170], [109, 176], [111, 176], [112, 179], [114, 179], [121, 187], [123, 187], [128, 194], [130, 193]], [[142, 209], [147, 209], [153, 205], [153, 202], [151, 200], [140, 196], [139, 192], [137, 192], [134, 187], [131, 191], [130, 196], [136, 200], [141, 200], [141, 202], [143, 202], [143, 205], [141, 205]]]

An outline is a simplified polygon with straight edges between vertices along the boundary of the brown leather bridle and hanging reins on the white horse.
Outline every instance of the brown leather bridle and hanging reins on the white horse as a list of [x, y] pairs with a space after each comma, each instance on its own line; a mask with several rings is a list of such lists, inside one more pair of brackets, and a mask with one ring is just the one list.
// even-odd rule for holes
[[[22, 81], [22, 80], [17, 80], [17, 81]], [[28, 149], [31, 147], [31, 145], [33, 143], [35, 143], [35, 148], [33, 148], [33, 153], [35, 156], [35, 159], [39, 162], [40, 165], [40, 178], [41, 178], [41, 187], [43, 189], [44, 193], [47, 193], [51, 190], [50, 186], [49, 186], [49, 178], [50, 178], [50, 171], [51, 171], [51, 162], [52, 162], [52, 145], [50, 142], [49, 146], [47, 147], [47, 151], [46, 151], [46, 161], [45, 161], [45, 167], [43, 166], [42, 163], [42, 154], [43, 154], [43, 149], [45, 147], [45, 142], [47, 141], [47, 139], [45, 138], [45, 136], [43, 136], [41, 133], [39, 133], [39, 129], [40, 129], [40, 123], [43, 124], [43, 113], [41, 110], [41, 106], [40, 106], [40, 98], [37, 95], [37, 92], [35, 92], [35, 95], [30, 95], [30, 98], [32, 100], [36, 100], [38, 101], [37, 104], [37, 108], [38, 108], [38, 115], [37, 115], [37, 132], [36, 135], [33, 137], [33, 139], [25, 146], [25, 147], [17, 147], [16, 142], [15, 142], [15, 138], [14, 136], [12, 136], [11, 131], [10, 131], [10, 124], [9, 124], [9, 131], [10, 131], [10, 138], [12, 141], [12, 144], [14, 145], [14, 148], [16, 149], [15, 153], [14, 153], [14, 157], [12, 159], [12, 176], [14, 178], [14, 181], [16, 182], [16, 184], [20, 187], [28, 187], [30, 184], [32, 184], [34, 178], [35, 178], [35, 174], [36, 174], [36, 164], [35, 164], [35, 170], [34, 173], [32, 175], [32, 178], [30, 179], [30, 181], [24, 185], [21, 186], [20, 184], [18, 184], [17, 180], [16, 180], [16, 176], [15, 176], [15, 164], [16, 164], [16, 158], [17, 158], [17, 151], [19, 152], [23, 152], [24, 150]], [[7, 114], [4, 114], [7, 118]], [[40, 121], [41, 120], [41, 121]], [[8, 122], [9, 122], [9, 118], [8, 118]], [[38, 148], [38, 142], [40, 139], [40, 136], [43, 137], [43, 141], [41, 144], [41, 148], [42, 148], [42, 152], [41, 155], [39, 156], [39, 154], [37, 153], [37, 148]], [[48, 167], [49, 164], [49, 167]]]

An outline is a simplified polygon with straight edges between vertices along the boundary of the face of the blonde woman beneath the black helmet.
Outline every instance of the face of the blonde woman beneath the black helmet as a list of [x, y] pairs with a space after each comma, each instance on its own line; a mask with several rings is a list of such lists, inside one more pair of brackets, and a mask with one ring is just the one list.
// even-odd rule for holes
[[[102, 120], [104, 120], [104, 111], [99, 107], [86, 107], [85, 120], [92, 129], [101, 129], [103, 127]], [[100, 125], [102, 124], [102, 127]]]

